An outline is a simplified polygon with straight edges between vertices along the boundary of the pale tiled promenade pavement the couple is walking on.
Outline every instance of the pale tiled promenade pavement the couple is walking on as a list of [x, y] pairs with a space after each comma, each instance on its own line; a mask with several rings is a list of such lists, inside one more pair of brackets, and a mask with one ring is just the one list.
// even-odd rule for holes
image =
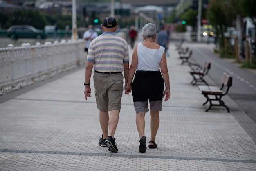
[[[0, 170], [255, 171], [256, 144], [231, 115], [243, 111], [224, 96], [231, 113], [224, 107], [204, 112], [205, 98], [191, 86], [189, 67], [180, 65], [174, 44], [169, 52], [171, 98], [160, 112], [156, 149], [139, 153], [131, 94], [123, 94], [115, 133], [118, 153], [98, 146], [99, 111], [93, 93], [85, 101], [82, 66], [30, 91], [18, 90], [24, 91], [18, 96], [0, 96], [13, 96], [0, 103]], [[149, 140], [149, 114], [145, 134]]]

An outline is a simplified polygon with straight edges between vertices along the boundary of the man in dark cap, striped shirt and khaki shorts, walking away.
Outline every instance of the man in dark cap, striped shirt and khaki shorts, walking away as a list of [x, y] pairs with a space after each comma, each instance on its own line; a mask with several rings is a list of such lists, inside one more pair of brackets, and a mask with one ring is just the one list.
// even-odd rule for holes
[[[114, 17], [106, 17], [101, 28], [102, 35], [93, 39], [88, 49], [84, 94], [86, 100], [87, 97], [91, 97], [90, 78], [94, 66], [96, 105], [99, 109], [99, 122], [103, 133], [98, 145], [108, 147], [111, 152], [117, 152], [114, 134], [119, 120], [121, 97], [127, 85], [128, 43], [115, 33], [117, 22]], [[124, 79], [125, 86], [123, 87]]]

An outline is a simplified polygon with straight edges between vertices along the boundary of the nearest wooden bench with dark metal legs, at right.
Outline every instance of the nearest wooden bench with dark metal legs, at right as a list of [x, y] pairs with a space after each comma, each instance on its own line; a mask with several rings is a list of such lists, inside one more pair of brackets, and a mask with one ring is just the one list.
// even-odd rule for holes
[[[222, 86], [221, 88], [217, 86], [207, 86], [207, 85], [199, 85], [198, 88], [202, 92], [202, 94], [206, 97], [206, 102], [203, 103], [205, 105], [208, 101], [210, 106], [205, 110], [208, 111], [212, 106], [223, 106], [229, 112], [229, 108], [225, 105], [225, 103], [221, 100], [223, 96], [225, 96], [229, 92], [229, 88], [232, 86], [232, 77], [223, 73], [222, 76]], [[215, 99], [211, 99], [210, 97], [215, 96]], [[218, 104], [213, 104], [212, 101], [218, 101]]]

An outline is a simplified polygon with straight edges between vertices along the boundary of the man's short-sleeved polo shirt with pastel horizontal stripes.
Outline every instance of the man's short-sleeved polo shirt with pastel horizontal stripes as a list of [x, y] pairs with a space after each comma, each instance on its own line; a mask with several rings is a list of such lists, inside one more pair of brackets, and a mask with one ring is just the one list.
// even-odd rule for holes
[[115, 32], [104, 32], [90, 43], [87, 61], [99, 72], [122, 72], [129, 63], [128, 44]]

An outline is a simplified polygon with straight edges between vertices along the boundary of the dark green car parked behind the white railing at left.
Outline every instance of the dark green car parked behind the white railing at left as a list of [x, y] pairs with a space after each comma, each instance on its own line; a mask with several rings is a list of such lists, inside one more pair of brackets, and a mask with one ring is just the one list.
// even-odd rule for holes
[[29, 25], [13, 25], [7, 29], [7, 37], [11, 39], [34, 38], [45, 39], [45, 32]]

